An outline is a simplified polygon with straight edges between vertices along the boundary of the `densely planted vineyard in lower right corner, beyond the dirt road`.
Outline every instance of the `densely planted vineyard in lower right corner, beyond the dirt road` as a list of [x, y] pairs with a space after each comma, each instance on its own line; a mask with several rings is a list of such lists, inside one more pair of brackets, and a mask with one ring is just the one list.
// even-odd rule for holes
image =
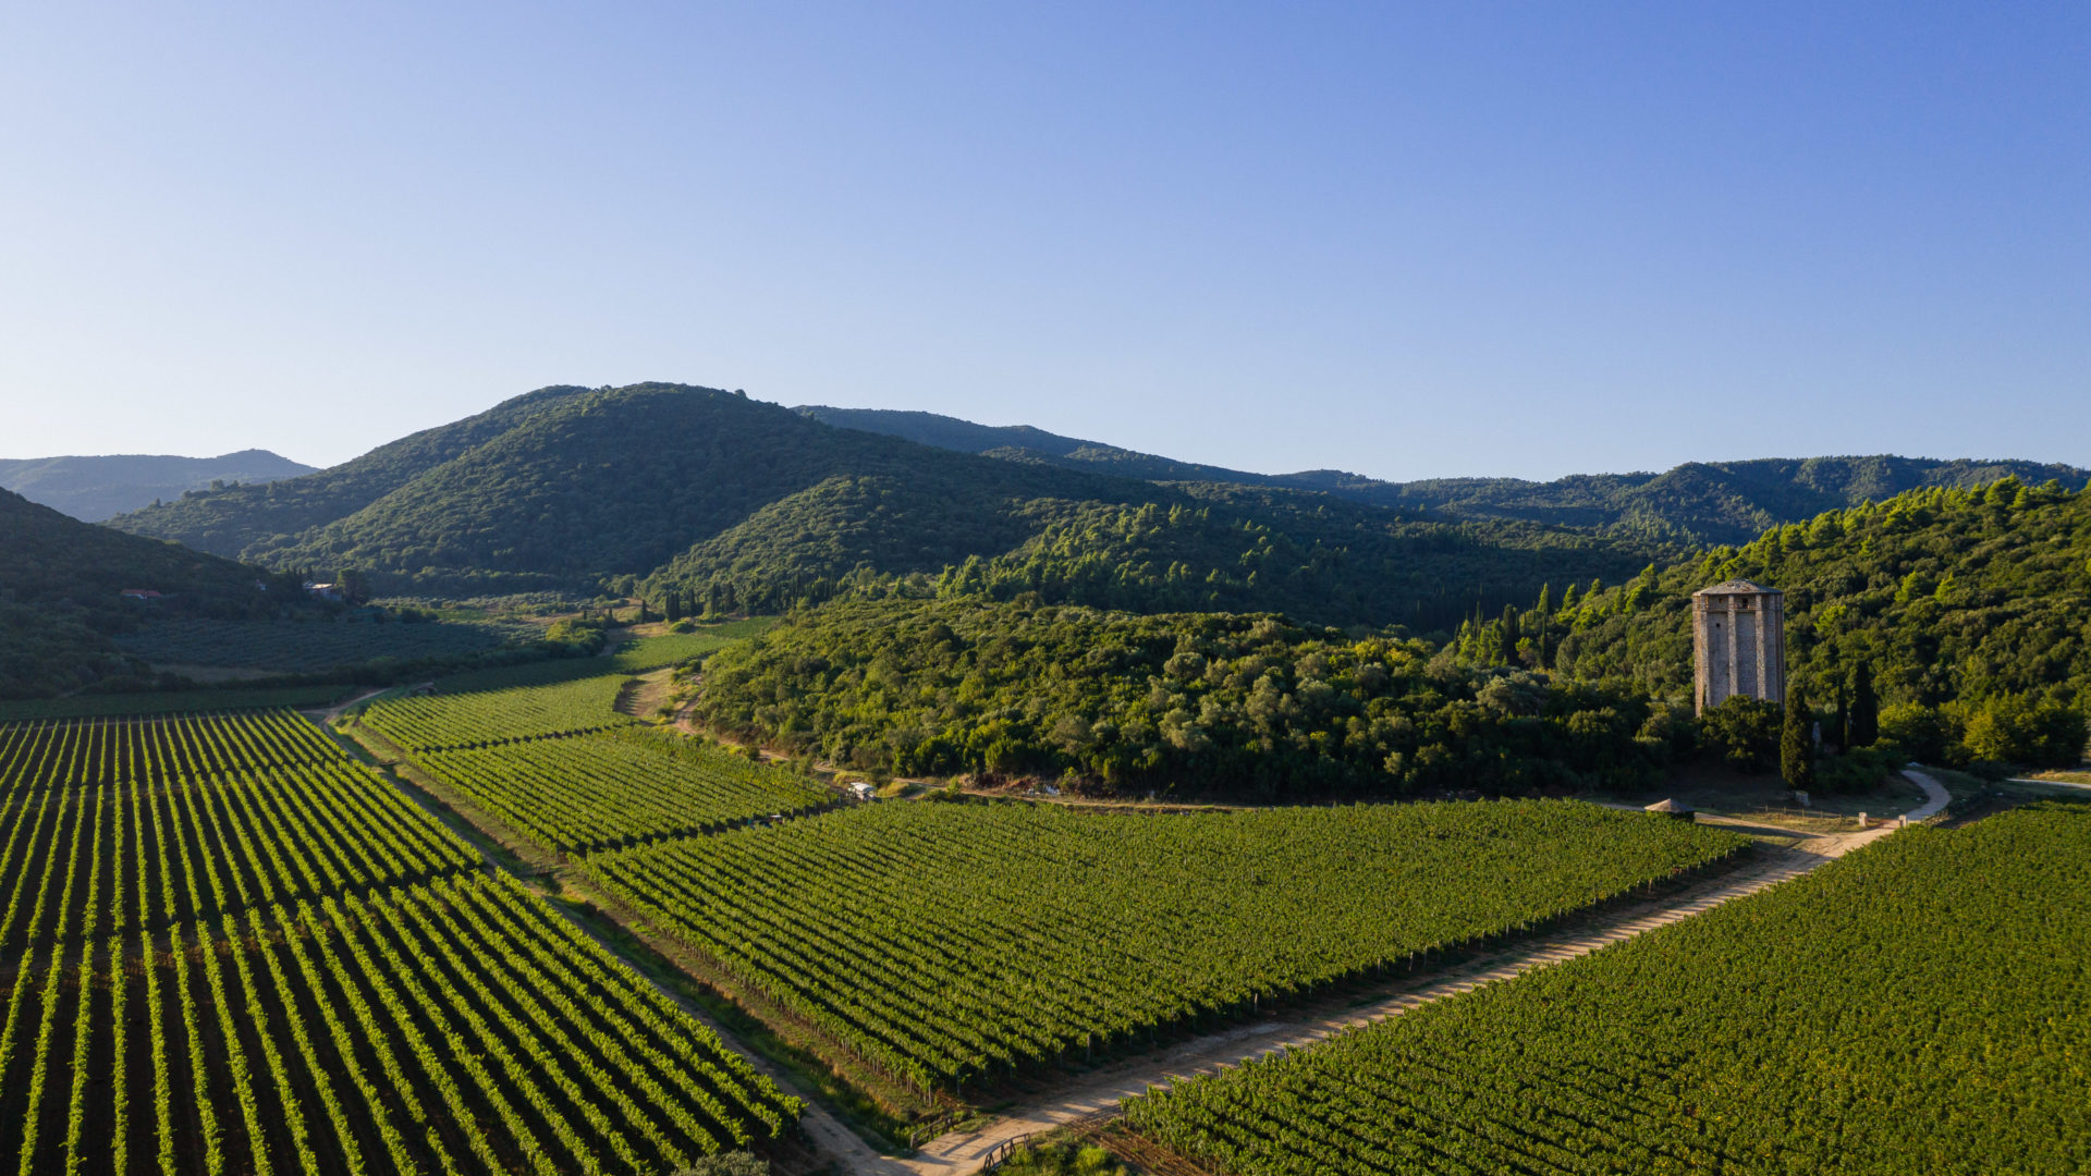
[[2091, 808], [1911, 829], [1127, 1107], [1242, 1176], [2083, 1172]]

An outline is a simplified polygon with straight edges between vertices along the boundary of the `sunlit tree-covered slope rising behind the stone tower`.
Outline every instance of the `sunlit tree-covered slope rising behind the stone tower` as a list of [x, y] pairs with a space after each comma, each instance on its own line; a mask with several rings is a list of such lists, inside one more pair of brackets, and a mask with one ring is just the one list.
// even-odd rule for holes
[[1788, 674], [1823, 718], [1867, 672], [1880, 734], [1926, 762], [2076, 764], [2091, 714], [2091, 496], [2016, 477], [1917, 490], [1713, 548], [1625, 584], [1472, 615], [1470, 665], [1690, 699], [1692, 592], [1784, 590]]

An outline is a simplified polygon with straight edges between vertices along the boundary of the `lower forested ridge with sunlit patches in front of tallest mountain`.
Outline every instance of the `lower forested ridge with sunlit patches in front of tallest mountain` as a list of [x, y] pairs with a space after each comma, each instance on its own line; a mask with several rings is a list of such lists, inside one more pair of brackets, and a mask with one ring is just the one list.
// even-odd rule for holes
[[[1016, 467], [1022, 469], [1022, 467]], [[836, 594], [928, 592], [1127, 611], [1282, 611], [1313, 624], [1449, 630], [1478, 601], [1625, 575], [1646, 552], [1514, 523], [1443, 523], [1240, 485], [1100, 479], [999, 485], [928, 465], [832, 477], [696, 544], [640, 592], [780, 611]], [[1048, 471], [1037, 471], [1048, 473]]]

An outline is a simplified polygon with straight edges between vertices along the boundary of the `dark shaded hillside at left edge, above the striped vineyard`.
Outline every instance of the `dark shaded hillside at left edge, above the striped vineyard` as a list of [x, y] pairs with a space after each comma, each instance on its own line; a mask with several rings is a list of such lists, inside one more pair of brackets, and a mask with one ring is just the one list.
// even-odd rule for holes
[[[132, 668], [109, 634], [146, 613], [268, 611], [255, 569], [82, 523], [0, 490], [0, 697], [33, 697]], [[161, 592], [153, 603], [121, 592]]]

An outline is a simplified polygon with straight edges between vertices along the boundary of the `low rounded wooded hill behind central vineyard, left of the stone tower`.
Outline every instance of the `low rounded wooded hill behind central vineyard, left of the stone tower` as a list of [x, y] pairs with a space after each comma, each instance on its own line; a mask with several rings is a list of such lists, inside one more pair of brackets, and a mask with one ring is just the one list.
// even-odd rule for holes
[[1631, 787], [1690, 749], [1690, 716], [1639, 691], [1466, 668], [1418, 640], [983, 598], [792, 617], [707, 663], [698, 714], [864, 768], [1271, 799]]

